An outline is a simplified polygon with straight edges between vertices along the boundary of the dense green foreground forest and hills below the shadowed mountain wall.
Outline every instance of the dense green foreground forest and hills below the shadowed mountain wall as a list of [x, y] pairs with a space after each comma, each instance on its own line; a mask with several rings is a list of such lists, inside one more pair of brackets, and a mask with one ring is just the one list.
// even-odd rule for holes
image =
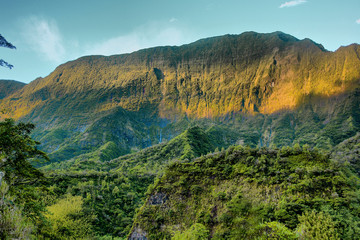
[[34, 126], [0, 127], [3, 239], [358, 238], [359, 135], [331, 152], [219, 151], [194, 127], [107, 164], [38, 170]]

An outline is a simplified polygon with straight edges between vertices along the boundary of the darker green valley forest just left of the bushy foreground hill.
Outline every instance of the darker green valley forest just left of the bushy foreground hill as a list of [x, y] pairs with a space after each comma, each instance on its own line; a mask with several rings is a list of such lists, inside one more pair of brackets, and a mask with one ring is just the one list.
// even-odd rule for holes
[[50, 175], [49, 180], [49, 188], [57, 198], [67, 199], [71, 194], [82, 199], [82, 214], [94, 216], [87, 219], [93, 235], [125, 237], [154, 176], [70, 172]]

